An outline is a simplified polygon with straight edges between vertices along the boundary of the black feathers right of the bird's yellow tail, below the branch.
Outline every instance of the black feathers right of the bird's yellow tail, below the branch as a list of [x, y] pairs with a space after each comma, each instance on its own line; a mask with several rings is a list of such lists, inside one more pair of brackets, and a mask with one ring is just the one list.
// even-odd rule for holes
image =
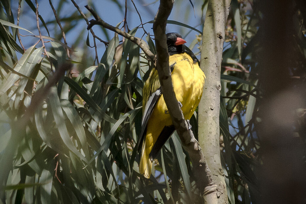
[[162, 129], [162, 132], [160, 133], [159, 137], [157, 138], [150, 154], [149, 157], [151, 159], [151, 161], [153, 161], [153, 159], [156, 158], [157, 154], [159, 153], [159, 151], [162, 149], [162, 147], [164, 146], [164, 144], [166, 143], [166, 141], [170, 138], [170, 136], [172, 135], [172, 133], [174, 132], [175, 128], [174, 125], [170, 125], [170, 126], [165, 126]]

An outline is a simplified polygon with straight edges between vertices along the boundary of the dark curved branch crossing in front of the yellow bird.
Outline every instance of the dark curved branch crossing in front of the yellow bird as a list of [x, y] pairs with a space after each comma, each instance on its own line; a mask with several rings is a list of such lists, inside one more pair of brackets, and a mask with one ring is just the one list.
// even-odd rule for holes
[[195, 139], [192, 131], [188, 130], [188, 124], [177, 102], [172, 85], [165, 32], [166, 20], [172, 10], [173, 2], [173, 0], [160, 0], [159, 10], [153, 23], [157, 52], [156, 69], [159, 75], [162, 94], [171, 115], [172, 122], [181, 139], [182, 146], [188, 152], [192, 161], [197, 187], [199, 187], [203, 194], [207, 194], [214, 191], [216, 185], [198, 141]]

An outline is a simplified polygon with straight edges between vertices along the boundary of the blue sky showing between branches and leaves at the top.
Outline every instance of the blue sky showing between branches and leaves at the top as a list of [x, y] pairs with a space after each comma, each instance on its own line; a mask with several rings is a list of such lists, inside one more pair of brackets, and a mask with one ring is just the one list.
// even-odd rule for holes
[[[32, 0], [32, 2], [35, 4], [35, 1]], [[48, 0], [40, 0], [39, 2], [39, 14], [43, 17], [45, 22], [54, 20], [54, 14], [50, 7]], [[53, 6], [55, 9], [58, 8], [58, 0], [52, 0]], [[81, 10], [84, 13], [87, 13], [87, 9], [84, 7], [87, 4], [90, 4], [91, 2], [94, 3], [96, 12], [99, 14], [99, 16], [106, 21], [107, 23], [111, 25], [116, 25], [119, 22], [121, 22], [124, 19], [124, 3], [125, 1], [119, 0], [118, 2], [123, 6], [122, 8], [119, 8], [119, 6], [115, 3], [115, 1], [112, 0], [99, 0], [99, 1], [85, 1], [85, 0], [76, 0], [76, 3], [80, 6]], [[159, 1], [154, 0], [135, 0], [134, 3], [136, 4], [136, 7], [138, 11], [140, 12], [140, 15], [142, 17], [143, 23], [148, 22], [150, 20], [154, 19], [155, 13], [158, 10], [159, 7]], [[194, 1], [193, 4], [195, 5], [195, 13], [193, 11], [193, 8], [188, 0], [177, 0], [174, 3], [174, 8], [170, 14], [169, 20], [176, 20], [185, 24], [188, 24], [192, 27], [195, 27], [197, 25], [200, 25], [201, 21], [201, 6], [203, 4], [202, 1]], [[128, 10], [127, 10], [127, 22], [129, 29], [132, 29], [140, 24], [140, 19], [138, 17], [138, 14], [136, 13], [136, 10], [131, 2], [131, 0], [127, 1]], [[17, 16], [17, 4], [12, 1], [12, 10], [14, 13], [14, 17], [16, 19]], [[20, 17], [20, 26], [23, 28], [27, 28], [31, 32], [33, 32], [35, 35], [38, 35], [38, 31], [36, 28], [36, 16], [35, 13], [29, 8], [29, 6], [26, 4], [26, 2], [22, 2], [22, 8], [21, 8], [21, 17]], [[67, 0], [61, 7], [60, 12], [58, 13], [58, 16], [60, 18], [69, 17], [72, 13], [76, 12], [76, 8], [73, 6], [72, 2]], [[92, 19], [93, 17], [88, 17], [88, 20]], [[15, 21], [15, 24], [17, 23], [17, 20]], [[62, 26], [65, 25], [65, 22], [62, 22]], [[86, 29], [87, 25], [85, 20], [80, 20], [78, 24], [68, 33], [66, 33], [66, 39], [68, 46], [72, 46], [72, 44], [75, 42], [75, 39], [80, 35], [80, 33], [84, 29]], [[145, 29], [147, 32], [150, 32], [150, 34], [153, 34], [153, 30], [151, 29], [152, 24], [146, 24]], [[48, 25], [50, 36], [54, 37], [54, 29], [57, 29], [59, 31], [59, 27], [54, 27], [54, 24]], [[202, 25], [196, 27], [198, 30], [202, 31]], [[42, 35], [47, 35], [46, 29], [41, 25], [41, 32]], [[94, 26], [93, 30], [97, 36], [99, 36], [103, 40], [107, 40], [103, 32], [101, 31], [101, 28], [98, 26]], [[185, 40], [187, 41], [187, 46], [190, 45], [192, 40], [195, 38], [195, 35], [198, 35], [196, 31], [189, 32], [190, 29], [184, 28], [178, 25], [171, 25], [168, 24], [166, 28], [166, 32], [179, 32], [182, 34], [183, 37], [185, 37]], [[188, 33], [189, 32], [189, 33]], [[20, 33], [22, 35], [29, 35], [28, 32], [20, 30]], [[188, 35], [186, 36], [186, 34]], [[113, 36], [113, 32], [108, 31], [108, 34], [110, 36]], [[143, 31], [140, 29], [137, 31], [136, 36], [141, 37], [143, 34]], [[83, 37], [83, 42], [86, 42], [86, 36], [87, 31], [85, 31], [85, 35]], [[28, 48], [29, 46], [33, 45], [35, 42], [38, 41], [37, 38], [34, 37], [21, 37], [22, 42], [24, 43], [25, 47]], [[92, 43], [92, 37], [90, 38], [91, 45]], [[63, 39], [61, 39], [63, 42]], [[47, 43], [48, 44], [48, 43]], [[39, 46], [39, 45], [38, 45]], [[48, 46], [48, 45], [47, 45]], [[50, 46], [50, 45], [49, 45]], [[105, 46], [103, 43], [98, 42], [98, 48], [99, 48], [99, 57], [102, 56]], [[90, 48], [91, 53], [94, 55], [94, 48]], [[197, 50], [197, 49], [196, 49]]]

